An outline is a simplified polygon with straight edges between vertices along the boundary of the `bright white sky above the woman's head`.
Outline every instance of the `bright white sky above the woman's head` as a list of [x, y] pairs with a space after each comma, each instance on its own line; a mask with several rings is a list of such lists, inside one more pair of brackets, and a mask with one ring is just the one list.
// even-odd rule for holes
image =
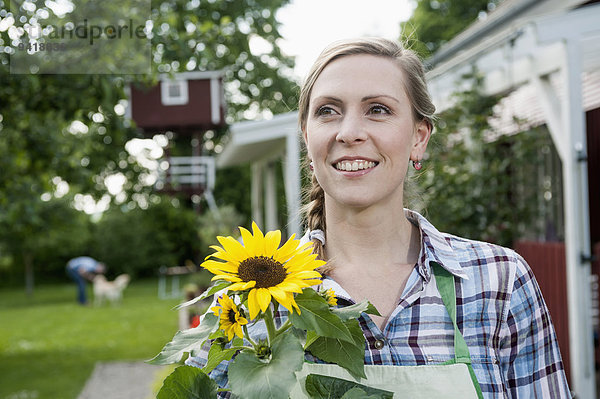
[[360, 36], [397, 40], [400, 22], [412, 14], [411, 0], [292, 0], [277, 20], [284, 40], [280, 47], [296, 57], [297, 78], [304, 78], [329, 43]]

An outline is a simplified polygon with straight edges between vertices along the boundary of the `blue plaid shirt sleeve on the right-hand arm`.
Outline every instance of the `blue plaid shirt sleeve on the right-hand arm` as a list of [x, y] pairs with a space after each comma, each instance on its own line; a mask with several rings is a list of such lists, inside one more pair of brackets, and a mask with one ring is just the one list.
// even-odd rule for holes
[[516, 256], [499, 357], [509, 398], [570, 398], [550, 313], [533, 272]]

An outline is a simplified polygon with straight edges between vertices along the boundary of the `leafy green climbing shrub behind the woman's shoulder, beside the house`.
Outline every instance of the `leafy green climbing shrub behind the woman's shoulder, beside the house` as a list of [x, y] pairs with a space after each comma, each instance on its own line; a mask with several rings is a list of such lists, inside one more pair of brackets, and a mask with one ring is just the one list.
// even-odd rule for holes
[[[542, 129], [498, 135], [489, 124], [497, 97], [482, 94], [481, 78], [439, 115], [418, 187], [426, 214], [441, 231], [512, 246], [537, 235], [543, 218], [538, 167], [551, 141]], [[426, 158], [427, 159], [427, 158]]]

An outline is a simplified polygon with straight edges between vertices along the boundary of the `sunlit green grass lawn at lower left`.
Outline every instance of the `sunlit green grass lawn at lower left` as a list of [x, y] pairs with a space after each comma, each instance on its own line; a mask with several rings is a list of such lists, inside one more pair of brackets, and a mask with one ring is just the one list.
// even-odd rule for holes
[[158, 299], [156, 280], [134, 280], [115, 307], [79, 306], [75, 294], [0, 290], [0, 399], [75, 399], [97, 361], [152, 358], [177, 331], [181, 300]]

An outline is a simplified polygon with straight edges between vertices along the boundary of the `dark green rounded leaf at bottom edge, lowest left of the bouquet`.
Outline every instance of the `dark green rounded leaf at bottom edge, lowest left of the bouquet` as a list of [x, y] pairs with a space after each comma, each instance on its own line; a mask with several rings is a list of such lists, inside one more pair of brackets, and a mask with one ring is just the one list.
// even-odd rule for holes
[[165, 378], [156, 399], [214, 399], [217, 388], [201, 369], [179, 366]]

